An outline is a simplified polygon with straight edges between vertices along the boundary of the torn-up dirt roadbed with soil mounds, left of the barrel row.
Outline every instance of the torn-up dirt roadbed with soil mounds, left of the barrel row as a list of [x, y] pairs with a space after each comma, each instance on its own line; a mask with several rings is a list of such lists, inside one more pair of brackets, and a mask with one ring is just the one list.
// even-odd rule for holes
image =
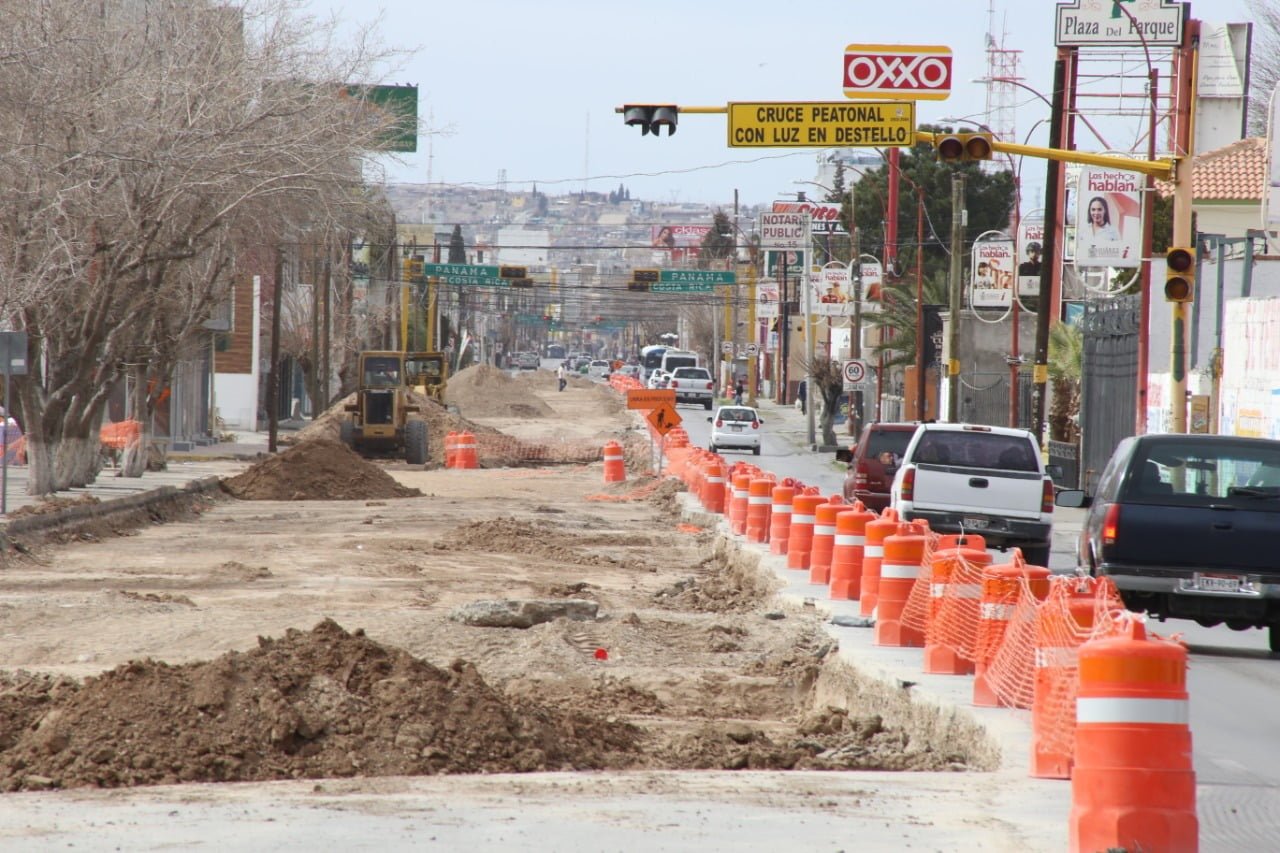
[[573, 461], [644, 456], [612, 392], [451, 391], [515, 465], [317, 429], [163, 524], [6, 555], [0, 847], [1062, 847], [1069, 784], [1027, 779], [1007, 717], [860, 670], [678, 482]]

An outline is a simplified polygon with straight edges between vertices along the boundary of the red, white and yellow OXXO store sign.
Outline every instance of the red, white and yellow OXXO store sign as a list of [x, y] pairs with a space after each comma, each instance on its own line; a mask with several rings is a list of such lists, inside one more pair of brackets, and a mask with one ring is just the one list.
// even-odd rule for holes
[[845, 97], [942, 101], [950, 96], [950, 47], [941, 45], [845, 47]]

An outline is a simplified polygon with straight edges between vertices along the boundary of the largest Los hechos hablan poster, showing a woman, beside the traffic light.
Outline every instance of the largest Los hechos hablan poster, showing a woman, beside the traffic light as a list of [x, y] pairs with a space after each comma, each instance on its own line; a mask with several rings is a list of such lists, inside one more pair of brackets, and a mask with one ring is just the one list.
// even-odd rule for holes
[[1134, 268], [1142, 263], [1142, 190], [1137, 172], [1084, 167], [1076, 188], [1075, 265]]

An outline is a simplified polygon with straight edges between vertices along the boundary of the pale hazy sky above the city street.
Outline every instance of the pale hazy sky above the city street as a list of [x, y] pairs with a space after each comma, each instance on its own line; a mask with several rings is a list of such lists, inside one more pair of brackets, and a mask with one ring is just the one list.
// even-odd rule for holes
[[[1100, 0], [1083, 0], [1097, 3]], [[1137, 0], [1148, 3], [1152, 0]], [[426, 131], [419, 151], [388, 163], [388, 181], [549, 193], [607, 192], [732, 205], [794, 197], [815, 177], [817, 149], [730, 149], [723, 115], [681, 115], [676, 134], [641, 138], [614, 108], [627, 102], [844, 101], [850, 44], [946, 45], [952, 93], [920, 101], [916, 119], [983, 119], [986, 33], [1023, 51], [1020, 74], [1048, 95], [1053, 3], [1002, 0], [306, 0], [348, 22], [380, 17], [381, 40], [416, 51], [384, 81], [416, 83]], [[1247, 20], [1243, 0], [1197, 0], [1206, 23]], [[1047, 140], [1048, 108], [1018, 96], [1016, 131]], [[1100, 119], [1101, 120], [1101, 119]], [[1121, 141], [1114, 145], [1120, 146]], [[1128, 140], [1126, 143], [1132, 143]], [[1082, 147], [1087, 147], [1082, 143]], [[1029, 161], [1024, 186], [1043, 186]], [[812, 195], [814, 187], [808, 187]], [[1025, 207], [1027, 205], [1024, 205]]]

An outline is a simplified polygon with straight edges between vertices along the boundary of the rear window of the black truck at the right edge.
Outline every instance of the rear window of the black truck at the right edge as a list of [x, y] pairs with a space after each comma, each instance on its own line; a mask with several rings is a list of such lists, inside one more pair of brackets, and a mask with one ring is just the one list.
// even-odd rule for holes
[[1134, 457], [1129, 476], [1130, 497], [1262, 502], [1280, 511], [1280, 442], [1162, 442]]

